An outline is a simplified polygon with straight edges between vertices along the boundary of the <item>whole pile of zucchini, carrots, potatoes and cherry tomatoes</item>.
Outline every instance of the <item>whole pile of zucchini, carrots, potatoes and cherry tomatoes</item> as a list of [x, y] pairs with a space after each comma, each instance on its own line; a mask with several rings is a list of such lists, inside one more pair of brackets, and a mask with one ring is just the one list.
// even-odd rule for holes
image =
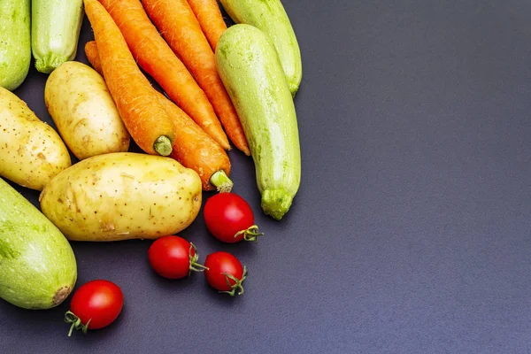
[[[75, 289], [70, 241], [151, 240], [167, 279], [193, 272], [243, 293], [247, 267], [177, 235], [199, 215], [220, 242], [257, 241], [234, 191], [227, 150], [253, 159], [261, 210], [281, 220], [301, 181], [293, 97], [301, 55], [280, 0], [5, 0], [0, 2], [0, 297], [50, 309], [71, 296], [73, 329], [107, 327], [124, 298], [97, 279]], [[74, 61], [87, 15], [95, 41]], [[161, 35], [162, 34], [162, 35]], [[44, 102], [57, 130], [12, 91], [29, 65], [49, 74]], [[164, 93], [154, 89], [150, 75]], [[131, 142], [142, 150], [129, 151]], [[70, 153], [76, 158], [72, 161]], [[5, 180], [40, 191], [40, 210]], [[102, 244], [103, 245], [103, 244]]]

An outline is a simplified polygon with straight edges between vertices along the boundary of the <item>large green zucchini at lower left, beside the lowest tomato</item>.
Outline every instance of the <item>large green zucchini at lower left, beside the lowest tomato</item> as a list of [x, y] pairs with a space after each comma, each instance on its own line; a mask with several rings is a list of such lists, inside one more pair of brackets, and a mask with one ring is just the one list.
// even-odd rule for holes
[[70, 243], [0, 178], [0, 298], [25, 309], [61, 304], [77, 279]]

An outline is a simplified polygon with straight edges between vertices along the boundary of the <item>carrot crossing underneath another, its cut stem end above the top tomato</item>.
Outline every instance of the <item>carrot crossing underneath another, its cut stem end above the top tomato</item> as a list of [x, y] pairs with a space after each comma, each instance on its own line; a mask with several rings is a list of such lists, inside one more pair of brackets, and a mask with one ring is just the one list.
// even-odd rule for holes
[[[85, 54], [90, 65], [104, 76], [101, 71], [96, 42], [90, 41], [85, 44]], [[217, 188], [223, 192], [230, 191], [233, 183], [228, 178], [231, 165], [227, 152], [176, 104], [173, 104], [157, 90], [155, 92], [166, 112], [173, 118], [178, 132], [170, 157], [185, 167], [196, 171], [203, 182], [203, 190]]]

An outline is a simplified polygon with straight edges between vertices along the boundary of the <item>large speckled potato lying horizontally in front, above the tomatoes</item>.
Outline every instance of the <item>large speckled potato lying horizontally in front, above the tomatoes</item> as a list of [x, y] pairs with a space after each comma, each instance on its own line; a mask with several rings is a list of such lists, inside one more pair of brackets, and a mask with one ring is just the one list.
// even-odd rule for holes
[[59, 173], [40, 196], [41, 210], [72, 241], [155, 239], [192, 223], [201, 179], [173, 158], [114, 152]]

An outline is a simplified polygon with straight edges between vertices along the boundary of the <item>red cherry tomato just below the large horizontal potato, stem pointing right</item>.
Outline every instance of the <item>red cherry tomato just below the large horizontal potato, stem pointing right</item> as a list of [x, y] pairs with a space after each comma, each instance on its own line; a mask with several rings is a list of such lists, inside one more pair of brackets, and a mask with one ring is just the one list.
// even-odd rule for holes
[[148, 250], [151, 267], [167, 279], [181, 279], [192, 271], [203, 271], [204, 266], [197, 263], [198, 258], [193, 243], [174, 235], [158, 238]]

